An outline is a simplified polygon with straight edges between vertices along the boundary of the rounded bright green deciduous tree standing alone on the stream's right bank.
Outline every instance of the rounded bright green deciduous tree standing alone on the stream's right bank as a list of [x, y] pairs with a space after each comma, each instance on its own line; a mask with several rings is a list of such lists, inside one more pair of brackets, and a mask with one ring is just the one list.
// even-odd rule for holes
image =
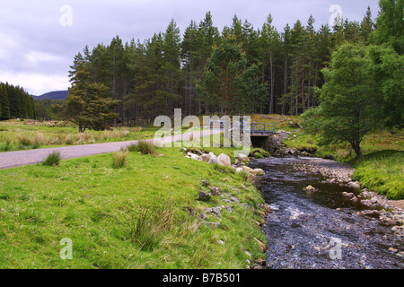
[[364, 135], [380, 126], [377, 94], [369, 74], [370, 61], [364, 46], [341, 45], [333, 54], [329, 69], [322, 73], [321, 106], [303, 114], [304, 126], [320, 133], [324, 143], [348, 142], [362, 156]]

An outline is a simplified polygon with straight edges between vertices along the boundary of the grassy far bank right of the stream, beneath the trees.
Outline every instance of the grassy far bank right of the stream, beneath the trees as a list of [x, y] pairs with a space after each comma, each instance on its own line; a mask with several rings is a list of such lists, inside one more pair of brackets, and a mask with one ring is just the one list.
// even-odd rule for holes
[[[314, 148], [316, 156], [336, 161], [346, 161], [355, 168], [354, 179], [390, 199], [404, 199], [404, 131], [378, 131], [364, 137], [361, 148], [364, 159], [356, 160], [355, 152], [349, 143], [321, 145], [319, 138], [304, 132], [300, 126], [303, 118], [296, 116], [253, 115], [252, 121], [277, 124], [277, 130], [291, 132], [284, 143], [297, 149]], [[291, 125], [292, 123], [292, 125]]]

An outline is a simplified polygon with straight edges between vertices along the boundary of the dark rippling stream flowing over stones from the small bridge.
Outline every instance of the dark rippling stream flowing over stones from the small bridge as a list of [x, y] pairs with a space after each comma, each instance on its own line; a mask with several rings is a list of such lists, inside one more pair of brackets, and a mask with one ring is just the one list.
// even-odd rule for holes
[[[403, 249], [400, 236], [358, 214], [364, 206], [342, 195], [357, 190], [324, 183], [318, 173], [294, 170], [294, 163], [303, 161], [272, 157], [250, 162], [250, 167], [266, 171], [257, 185], [271, 206], [264, 227], [267, 267], [402, 269], [403, 259], [389, 250]], [[305, 191], [309, 185], [318, 190]]]

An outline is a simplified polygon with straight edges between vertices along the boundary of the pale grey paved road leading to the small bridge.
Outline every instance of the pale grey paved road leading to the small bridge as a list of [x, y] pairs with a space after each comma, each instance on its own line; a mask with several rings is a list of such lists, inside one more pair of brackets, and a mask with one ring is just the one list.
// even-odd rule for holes
[[[208, 135], [215, 135], [220, 133], [220, 130], [213, 131], [198, 131], [193, 133], [187, 133], [184, 139], [188, 139], [189, 134], [194, 135], [194, 139], [204, 137]], [[169, 137], [163, 137], [162, 143], [173, 143], [181, 140], [182, 135], [173, 135]], [[147, 142], [153, 142], [153, 139], [146, 140]], [[26, 165], [37, 164], [44, 161], [48, 154], [51, 152], [60, 152], [60, 156], [63, 160], [80, 158], [83, 156], [89, 156], [101, 153], [118, 152], [122, 147], [127, 147], [131, 143], [138, 143], [138, 141], [128, 141], [119, 143], [94, 143], [84, 145], [73, 145], [66, 147], [58, 147], [51, 149], [19, 151], [19, 152], [0, 152], [0, 170], [6, 170]]]

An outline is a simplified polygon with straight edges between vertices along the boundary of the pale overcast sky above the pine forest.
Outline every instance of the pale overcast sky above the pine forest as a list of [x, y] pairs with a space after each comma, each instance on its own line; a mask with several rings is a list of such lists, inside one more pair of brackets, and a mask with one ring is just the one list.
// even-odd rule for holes
[[191, 20], [210, 11], [221, 31], [234, 14], [261, 28], [269, 13], [282, 31], [314, 16], [315, 27], [329, 23], [338, 5], [344, 19], [362, 21], [367, 6], [373, 19], [378, 0], [0, 0], [0, 82], [20, 85], [33, 95], [67, 90], [69, 66], [88, 45], [149, 39], [173, 18], [181, 34]]

